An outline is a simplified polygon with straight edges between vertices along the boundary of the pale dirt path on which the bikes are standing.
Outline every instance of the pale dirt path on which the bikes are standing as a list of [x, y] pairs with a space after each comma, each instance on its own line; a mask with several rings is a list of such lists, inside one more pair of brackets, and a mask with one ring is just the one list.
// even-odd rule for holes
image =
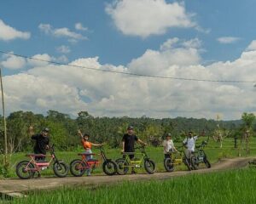
[[0, 180], [1, 195], [20, 195], [19, 193], [29, 190], [54, 189], [61, 186], [79, 186], [79, 185], [98, 185], [98, 184], [116, 184], [122, 181], [148, 180], [148, 179], [166, 179], [178, 176], [184, 176], [191, 173], [212, 173], [226, 169], [246, 167], [250, 158], [223, 159], [212, 165], [212, 168], [202, 168], [197, 171], [182, 171], [172, 173], [154, 173], [154, 174], [127, 174], [124, 176], [91, 176], [91, 177], [67, 177], [67, 178], [32, 178], [28, 180], [4, 179]]

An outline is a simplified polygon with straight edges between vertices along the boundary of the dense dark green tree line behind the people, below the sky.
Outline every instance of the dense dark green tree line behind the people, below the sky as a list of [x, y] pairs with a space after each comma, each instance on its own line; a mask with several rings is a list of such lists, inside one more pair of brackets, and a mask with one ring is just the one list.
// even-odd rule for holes
[[[140, 139], [147, 141], [148, 144], [154, 144], [155, 139], [160, 140], [166, 133], [172, 133], [174, 140], [181, 140], [189, 131], [212, 137], [219, 127], [229, 133], [228, 137], [240, 137], [248, 125], [251, 126], [251, 132], [255, 133], [254, 118], [255, 116], [248, 124], [242, 116], [241, 120], [236, 121], [215, 121], [184, 117], [163, 119], [147, 116], [96, 117], [91, 116], [87, 111], [80, 111], [76, 118], [72, 118], [58, 111], [48, 111], [46, 116], [34, 114], [32, 111], [15, 111], [6, 120], [9, 153], [12, 153], [32, 150], [33, 142], [27, 133], [31, 125], [37, 133], [40, 133], [44, 127], [49, 127], [52, 144], [55, 144], [59, 150], [73, 150], [80, 146], [78, 129], [81, 129], [83, 133], [89, 133], [91, 141], [104, 142], [112, 148], [117, 148], [128, 125], [134, 126]], [[0, 150], [3, 150], [3, 117], [0, 119]]]

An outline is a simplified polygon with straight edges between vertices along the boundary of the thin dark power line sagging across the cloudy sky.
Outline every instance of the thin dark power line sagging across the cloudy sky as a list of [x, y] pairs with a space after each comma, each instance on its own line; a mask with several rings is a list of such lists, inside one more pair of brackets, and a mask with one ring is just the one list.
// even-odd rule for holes
[[134, 76], [134, 77], [149, 77], [149, 78], [161, 78], [161, 79], [173, 79], [173, 80], [182, 80], [182, 81], [193, 81], [193, 82], [228, 82], [228, 83], [256, 83], [256, 81], [241, 81], [241, 80], [212, 80], [212, 79], [198, 79], [198, 78], [185, 78], [185, 77], [164, 77], [164, 76], [155, 76], [155, 75], [145, 75], [145, 74], [138, 74], [138, 73], [132, 73], [132, 72], [125, 72], [125, 71], [110, 71], [106, 69], [96, 69], [93, 67], [88, 67], [88, 66], [82, 66], [82, 65], [69, 65], [61, 62], [56, 62], [56, 61], [50, 61], [46, 59], [37, 59], [33, 57], [28, 57], [25, 55], [21, 54], [12, 54], [8, 52], [4, 52], [0, 50], [0, 53], [2, 54], [9, 54], [13, 55], [16, 57], [24, 58], [24, 59], [33, 59], [37, 61], [42, 61], [42, 62], [47, 62], [49, 64], [53, 65], [67, 65], [67, 66], [73, 66], [73, 67], [79, 67], [87, 70], [92, 70], [92, 71], [102, 71], [102, 72], [111, 72], [115, 74], [121, 74], [121, 75], [129, 75], [129, 76]]

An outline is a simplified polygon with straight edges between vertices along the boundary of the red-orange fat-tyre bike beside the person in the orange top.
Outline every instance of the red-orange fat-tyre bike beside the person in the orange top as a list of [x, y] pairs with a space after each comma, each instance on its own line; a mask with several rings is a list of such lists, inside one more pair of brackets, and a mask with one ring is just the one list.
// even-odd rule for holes
[[70, 172], [75, 177], [81, 177], [84, 175], [86, 169], [91, 169], [91, 173], [93, 170], [100, 165], [100, 161], [98, 159], [89, 159], [87, 160], [87, 156], [102, 156], [103, 163], [102, 163], [102, 170], [104, 173], [106, 173], [108, 176], [113, 176], [117, 173], [117, 164], [112, 161], [111, 159], [108, 159], [108, 157], [105, 154], [105, 150], [102, 146], [100, 146], [100, 154], [87, 154], [87, 153], [79, 153], [79, 156], [82, 157], [82, 159], [75, 159], [70, 162]]

